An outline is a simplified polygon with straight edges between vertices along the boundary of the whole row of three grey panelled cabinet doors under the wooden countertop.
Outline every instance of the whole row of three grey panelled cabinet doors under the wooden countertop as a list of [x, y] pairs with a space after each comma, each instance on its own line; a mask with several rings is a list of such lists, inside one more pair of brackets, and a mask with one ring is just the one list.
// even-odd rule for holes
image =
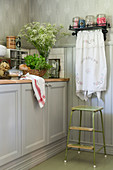
[[64, 138], [66, 115], [67, 82], [46, 83], [42, 109], [31, 83], [0, 85], [0, 166]]

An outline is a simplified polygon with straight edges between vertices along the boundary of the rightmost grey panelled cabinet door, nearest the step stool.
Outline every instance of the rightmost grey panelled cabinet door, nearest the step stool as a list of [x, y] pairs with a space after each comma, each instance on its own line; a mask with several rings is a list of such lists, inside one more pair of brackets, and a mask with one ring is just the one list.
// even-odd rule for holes
[[48, 84], [48, 143], [66, 135], [67, 83]]

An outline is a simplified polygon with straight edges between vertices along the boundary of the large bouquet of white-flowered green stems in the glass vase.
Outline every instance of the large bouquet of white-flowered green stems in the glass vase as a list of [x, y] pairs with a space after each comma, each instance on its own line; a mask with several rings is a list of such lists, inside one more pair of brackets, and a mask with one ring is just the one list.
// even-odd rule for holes
[[50, 23], [32, 22], [23, 26], [18, 36], [24, 37], [47, 59], [50, 49], [55, 45], [56, 40], [69, 35], [62, 32], [63, 26], [51, 25]]

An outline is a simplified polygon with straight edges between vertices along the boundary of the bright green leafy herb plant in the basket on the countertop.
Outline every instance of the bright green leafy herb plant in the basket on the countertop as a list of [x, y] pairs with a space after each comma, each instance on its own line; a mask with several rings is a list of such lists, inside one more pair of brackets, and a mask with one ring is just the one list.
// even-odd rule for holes
[[25, 63], [31, 69], [37, 70], [48, 70], [51, 68], [51, 65], [47, 63], [45, 57], [39, 56], [38, 54], [28, 55], [25, 58]]

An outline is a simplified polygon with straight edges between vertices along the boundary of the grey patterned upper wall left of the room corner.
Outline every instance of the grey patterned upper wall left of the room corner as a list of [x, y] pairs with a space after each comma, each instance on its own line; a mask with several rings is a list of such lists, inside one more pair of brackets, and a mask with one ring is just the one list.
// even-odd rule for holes
[[0, 0], [0, 44], [16, 36], [29, 20], [29, 0]]

